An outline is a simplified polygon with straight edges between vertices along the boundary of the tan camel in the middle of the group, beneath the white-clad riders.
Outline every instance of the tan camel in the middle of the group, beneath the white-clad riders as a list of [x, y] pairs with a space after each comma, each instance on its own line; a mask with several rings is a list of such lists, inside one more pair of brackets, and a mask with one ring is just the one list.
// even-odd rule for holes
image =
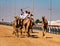
[[[23, 25], [25, 27], [25, 33], [29, 37], [30, 36], [30, 30], [33, 33], [33, 23], [30, 19], [26, 22], [26, 20], [23, 21]], [[23, 27], [22, 27], [23, 28]], [[21, 32], [22, 33], [22, 32]]]

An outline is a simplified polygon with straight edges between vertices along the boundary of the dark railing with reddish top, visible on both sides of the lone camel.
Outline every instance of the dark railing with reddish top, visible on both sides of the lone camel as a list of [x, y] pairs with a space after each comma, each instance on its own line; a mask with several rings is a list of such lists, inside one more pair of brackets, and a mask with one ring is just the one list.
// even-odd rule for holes
[[[36, 25], [36, 29], [42, 30], [42, 25]], [[60, 25], [48, 25], [46, 32], [60, 34]]]

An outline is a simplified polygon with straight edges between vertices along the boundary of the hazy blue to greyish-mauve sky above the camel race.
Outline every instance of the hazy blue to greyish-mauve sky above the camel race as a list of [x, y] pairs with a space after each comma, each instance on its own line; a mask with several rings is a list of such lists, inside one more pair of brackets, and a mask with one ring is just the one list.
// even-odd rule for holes
[[[50, 14], [52, 1], [52, 14]], [[12, 22], [14, 16], [20, 15], [20, 9], [29, 10], [34, 19], [45, 16], [47, 20], [60, 20], [60, 0], [0, 0], [0, 21]]]

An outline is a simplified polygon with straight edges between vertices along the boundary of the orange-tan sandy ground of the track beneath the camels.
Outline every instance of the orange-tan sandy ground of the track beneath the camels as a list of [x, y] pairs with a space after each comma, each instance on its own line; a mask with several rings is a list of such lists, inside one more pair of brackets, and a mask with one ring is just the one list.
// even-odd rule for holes
[[19, 37], [12, 35], [11, 26], [0, 25], [0, 46], [60, 46], [60, 35], [46, 33], [42, 37], [42, 32], [34, 30], [31, 37]]

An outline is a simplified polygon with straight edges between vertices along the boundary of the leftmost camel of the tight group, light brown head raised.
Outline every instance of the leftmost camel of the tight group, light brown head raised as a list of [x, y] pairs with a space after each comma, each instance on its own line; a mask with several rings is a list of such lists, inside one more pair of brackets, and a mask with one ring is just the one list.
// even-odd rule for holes
[[19, 25], [18, 25], [19, 19], [18, 19], [18, 16], [14, 16], [14, 18], [15, 18], [15, 21], [12, 22], [14, 31], [12, 34], [15, 34], [17, 37], [19, 37], [19, 34], [18, 34], [19, 33]]

